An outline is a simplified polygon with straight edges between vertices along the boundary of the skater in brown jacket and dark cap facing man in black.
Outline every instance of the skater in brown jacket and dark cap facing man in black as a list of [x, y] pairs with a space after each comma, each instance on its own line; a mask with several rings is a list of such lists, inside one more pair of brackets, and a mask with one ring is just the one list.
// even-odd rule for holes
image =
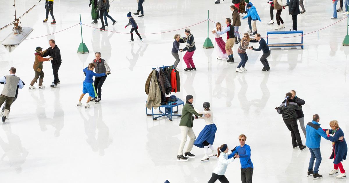
[[49, 60], [53, 60], [53, 58], [44, 58], [43, 55], [43, 48], [41, 48], [40, 46], [36, 47], [35, 50], [35, 61], [34, 61], [34, 65], [33, 65], [33, 69], [35, 72], [35, 77], [34, 79], [31, 81], [30, 85], [29, 85], [29, 89], [35, 89], [34, 84], [38, 81], [39, 79], [39, 89], [43, 89], [45, 88], [45, 86], [43, 86], [43, 79], [44, 79], [44, 71], [43, 71], [43, 62], [44, 61], [49, 61]]

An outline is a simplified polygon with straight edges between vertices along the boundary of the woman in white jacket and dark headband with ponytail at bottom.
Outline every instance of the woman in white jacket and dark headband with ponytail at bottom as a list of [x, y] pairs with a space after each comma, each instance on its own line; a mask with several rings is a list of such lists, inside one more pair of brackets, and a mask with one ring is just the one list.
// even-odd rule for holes
[[217, 158], [218, 158], [218, 165], [213, 170], [212, 177], [208, 181], [208, 183], [215, 183], [217, 180], [219, 180], [222, 183], [229, 183], [227, 177], [225, 177], [225, 170], [227, 170], [228, 164], [233, 162], [234, 159], [230, 158], [228, 159], [228, 145], [223, 144], [221, 147], [217, 148]]

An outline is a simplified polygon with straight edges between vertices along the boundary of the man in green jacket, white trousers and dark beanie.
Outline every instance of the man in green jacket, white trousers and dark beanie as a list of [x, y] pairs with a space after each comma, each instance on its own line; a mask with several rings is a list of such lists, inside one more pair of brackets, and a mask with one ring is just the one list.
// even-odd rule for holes
[[[198, 119], [197, 116], [203, 117], [204, 115], [196, 113], [195, 109], [193, 107], [193, 96], [192, 95], [187, 95], [186, 99], [186, 103], [182, 109], [182, 116], [180, 119], [180, 123], [179, 123], [179, 128], [182, 134], [182, 140], [181, 143], [179, 145], [179, 149], [178, 149], [178, 155], [177, 155], [177, 160], [178, 161], [188, 161], [188, 158], [195, 158], [195, 155], [190, 153], [190, 151], [193, 148], [194, 145], [194, 141], [195, 141], [195, 134], [194, 131], [192, 129], [193, 127], [193, 120], [194, 120], [194, 116], [193, 114], [196, 116], [195, 118]], [[206, 117], [210, 117], [210, 114], [206, 114]], [[187, 142], [187, 136], [189, 136], [190, 141], [187, 147], [187, 150], [184, 152], [184, 156], [183, 156], [183, 149], [184, 149], [184, 145]]]

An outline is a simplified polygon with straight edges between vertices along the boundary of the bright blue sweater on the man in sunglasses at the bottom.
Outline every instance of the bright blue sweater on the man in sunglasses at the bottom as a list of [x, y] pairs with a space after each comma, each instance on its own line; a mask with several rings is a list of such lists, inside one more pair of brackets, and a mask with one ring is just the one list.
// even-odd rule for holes
[[233, 158], [235, 153], [239, 153], [241, 168], [253, 168], [251, 161], [251, 148], [249, 145], [235, 147], [235, 151], [228, 155], [228, 159]]

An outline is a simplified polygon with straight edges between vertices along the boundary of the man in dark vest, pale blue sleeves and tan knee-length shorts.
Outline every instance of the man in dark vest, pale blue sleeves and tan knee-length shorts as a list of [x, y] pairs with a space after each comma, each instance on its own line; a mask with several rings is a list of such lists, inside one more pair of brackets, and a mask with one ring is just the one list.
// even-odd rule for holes
[[234, 62], [234, 55], [232, 47], [234, 46], [235, 41], [235, 31], [234, 26], [230, 24], [231, 20], [230, 18], [225, 18], [225, 24], [227, 24], [227, 27], [224, 28], [223, 31], [215, 31], [217, 35], [222, 35], [224, 33], [227, 33], [227, 42], [225, 43], [225, 52], [227, 52], [228, 60], [227, 62]]

